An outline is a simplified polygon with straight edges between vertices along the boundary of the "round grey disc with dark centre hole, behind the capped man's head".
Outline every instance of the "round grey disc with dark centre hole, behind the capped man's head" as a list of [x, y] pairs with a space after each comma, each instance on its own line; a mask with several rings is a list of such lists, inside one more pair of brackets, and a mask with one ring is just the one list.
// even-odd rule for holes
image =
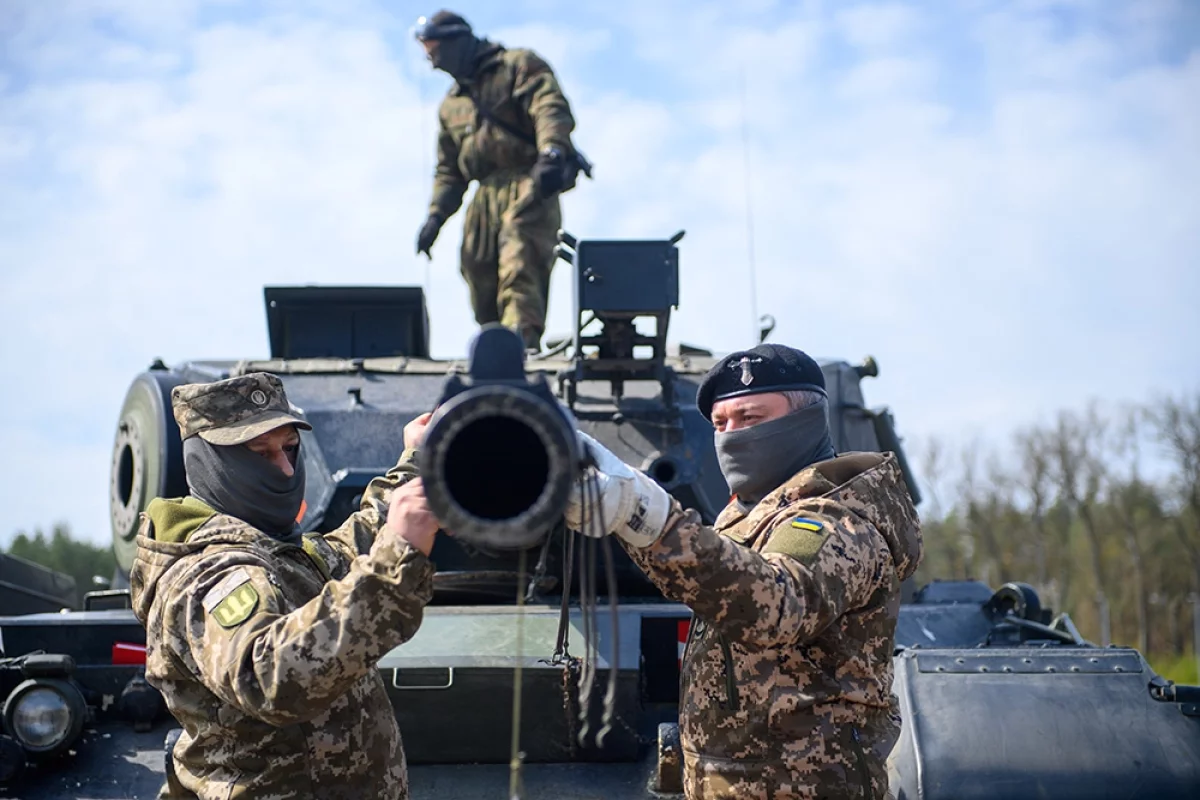
[[128, 576], [137, 551], [138, 515], [156, 497], [187, 493], [184, 446], [170, 413], [170, 390], [182, 384], [170, 372], [145, 372], [125, 393], [109, 473], [109, 522], [116, 567]]

